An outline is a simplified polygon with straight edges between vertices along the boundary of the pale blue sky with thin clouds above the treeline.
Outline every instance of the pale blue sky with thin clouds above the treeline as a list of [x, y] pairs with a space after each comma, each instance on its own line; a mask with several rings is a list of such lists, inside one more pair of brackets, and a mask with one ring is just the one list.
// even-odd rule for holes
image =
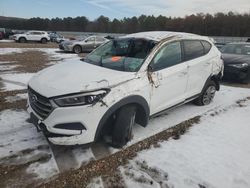
[[250, 13], [250, 0], [0, 0], [0, 16], [76, 17], [90, 20], [145, 15], [184, 17], [195, 13]]

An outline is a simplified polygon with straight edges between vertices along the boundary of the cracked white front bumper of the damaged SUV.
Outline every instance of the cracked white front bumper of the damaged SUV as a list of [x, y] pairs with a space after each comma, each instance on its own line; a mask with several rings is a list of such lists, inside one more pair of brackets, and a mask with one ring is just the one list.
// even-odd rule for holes
[[[27, 111], [37, 130], [43, 131], [50, 142], [56, 145], [77, 145], [94, 142], [99, 121], [106, 108], [98, 103], [94, 106], [58, 107], [43, 119], [32, 109], [28, 100]], [[83, 128], [72, 126], [74, 124], [81, 124]]]

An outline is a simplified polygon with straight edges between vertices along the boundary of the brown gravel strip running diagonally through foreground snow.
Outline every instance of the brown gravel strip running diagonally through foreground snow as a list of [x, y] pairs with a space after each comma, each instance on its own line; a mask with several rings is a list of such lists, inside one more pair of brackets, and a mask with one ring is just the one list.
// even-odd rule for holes
[[158, 147], [158, 143], [161, 141], [168, 140], [171, 137], [179, 139], [182, 134], [184, 134], [196, 123], [199, 123], [199, 121], [199, 116], [184, 121], [115, 154], [97, 161], [91, 161], [86, 166], [82, 166], [78, 170], [62, 173], [56, 179], [43, 184], [40, 187], [86, 187], [93, 178], [99, 176], [104, 177], [106, 180], [109, 179], [108, 187], [124, 187], [119, 174], [114, 173], [117, 172], [119, 166], [127, 164], [128, 160], [133, 159], [139, 151], [146, 150], [151, 147]]

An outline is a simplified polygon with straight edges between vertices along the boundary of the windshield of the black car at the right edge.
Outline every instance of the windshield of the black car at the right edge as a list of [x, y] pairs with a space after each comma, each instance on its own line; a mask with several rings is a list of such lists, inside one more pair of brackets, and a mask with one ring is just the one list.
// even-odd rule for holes
[[227, 44], [221, 49], [222, 53], [250, 55], [250, 44]]

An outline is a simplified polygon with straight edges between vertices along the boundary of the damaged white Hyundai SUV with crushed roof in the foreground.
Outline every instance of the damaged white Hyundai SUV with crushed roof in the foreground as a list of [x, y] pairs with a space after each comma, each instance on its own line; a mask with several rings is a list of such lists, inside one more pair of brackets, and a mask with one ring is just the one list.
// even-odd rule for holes
[[221, 53], [207, 38], [143, 32], [111, 40], [83, 61], [37, 73], [28, 85], [28, 112], [48, 140], [88, 144], [104, 135], [125, 145], [135, 123], [195, 101], [209, 104], [223, 75]]

